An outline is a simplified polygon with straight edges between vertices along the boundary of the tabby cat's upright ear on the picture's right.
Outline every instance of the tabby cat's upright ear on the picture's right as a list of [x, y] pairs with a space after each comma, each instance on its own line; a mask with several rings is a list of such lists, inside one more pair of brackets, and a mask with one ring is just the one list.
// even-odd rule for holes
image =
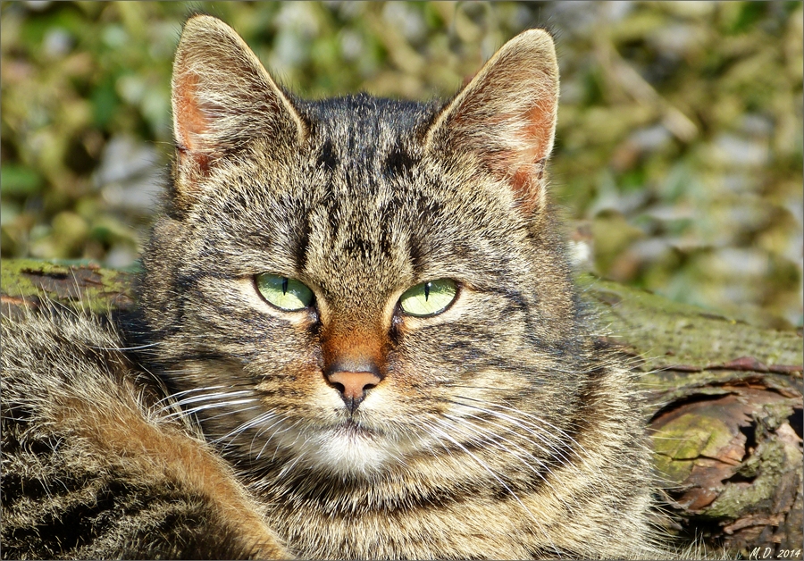
[[426, 149], [480, 165], [504, 180], [523, 214], [545, 207], [544, 167], [558, 111], [553, 39], [530, 29], [511, 39], [448, 104], [425, 137]]

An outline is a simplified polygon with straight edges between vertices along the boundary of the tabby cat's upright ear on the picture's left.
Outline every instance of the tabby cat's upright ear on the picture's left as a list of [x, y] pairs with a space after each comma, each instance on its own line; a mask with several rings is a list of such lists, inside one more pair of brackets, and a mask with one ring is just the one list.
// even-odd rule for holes
[[207, 15], [190, 18], [181, 32], [172, 110], [180, 191], [191, 190], [216, 159], [249, 138], [293, 146], [306, 134], [293, 105], [243, 39]]

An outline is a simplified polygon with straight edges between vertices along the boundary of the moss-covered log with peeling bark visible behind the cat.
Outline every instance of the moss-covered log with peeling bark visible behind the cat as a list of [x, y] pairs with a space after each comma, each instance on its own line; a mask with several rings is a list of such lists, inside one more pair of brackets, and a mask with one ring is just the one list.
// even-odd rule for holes
[[[43, 297], [126, 313], [135, 305], [132, 281], [93, 265], [4, 261], [3, 313]], [[801, 332], [758, 328], [590, 275], [579, 283], [608, 332], [600, 338], [642, 374], [673, 515], [668, 530], [742, 557], [801, 558]]]

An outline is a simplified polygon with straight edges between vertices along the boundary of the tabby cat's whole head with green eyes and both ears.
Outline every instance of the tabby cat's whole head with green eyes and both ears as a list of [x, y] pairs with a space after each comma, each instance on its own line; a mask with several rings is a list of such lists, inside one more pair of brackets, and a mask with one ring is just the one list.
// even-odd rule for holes
[[306, 102], [197, 16], [172, 92], [142, 306], [211, 438], [351, 477], [477, 446], [488, 423], [569, 430], [582, 349], [546, 198], [548, 33], [509, 41], [446, 105]]

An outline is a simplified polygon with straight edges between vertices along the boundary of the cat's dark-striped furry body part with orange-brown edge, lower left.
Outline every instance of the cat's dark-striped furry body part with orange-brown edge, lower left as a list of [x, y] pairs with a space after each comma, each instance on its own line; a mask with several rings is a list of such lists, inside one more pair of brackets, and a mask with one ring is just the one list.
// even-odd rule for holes
[[56, 315], [3, 328], [4, 558], [290, 557], [108, 326]]

